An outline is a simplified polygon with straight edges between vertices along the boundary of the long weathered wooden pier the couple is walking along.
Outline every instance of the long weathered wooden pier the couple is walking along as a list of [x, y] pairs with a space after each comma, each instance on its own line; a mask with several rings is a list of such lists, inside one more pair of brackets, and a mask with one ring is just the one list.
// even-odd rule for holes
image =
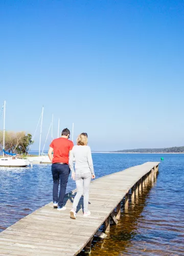
[[[53, 203], [39, 208], [0, 233], [0, 255], [72, 256], [83, 249], [90, 253], [94, 236], [105, 239], [110, 220], [118, 224], [122, 200], [128, 210], [128, 204], [156, 179], [158, 164], [147, 162], [91, 182], [88, 218], [83, 217], [81, 198], [76, 220], [70, 219], [76, 190], [65, 195], [65, 211], [57, 211]], [[103, 224], [104, 232], [100, 232]]]

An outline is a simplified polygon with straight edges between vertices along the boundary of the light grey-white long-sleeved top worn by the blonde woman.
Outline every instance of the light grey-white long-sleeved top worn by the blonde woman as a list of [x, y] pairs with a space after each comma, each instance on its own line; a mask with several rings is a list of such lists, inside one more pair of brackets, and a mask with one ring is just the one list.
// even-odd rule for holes
[[94, 174], [93, 160], [89, 146], [75, 145], [70, 152], [69, 166], [74, 173], [74, 158], [75, 158], [75, 171], [87, 172], [90, 170]]

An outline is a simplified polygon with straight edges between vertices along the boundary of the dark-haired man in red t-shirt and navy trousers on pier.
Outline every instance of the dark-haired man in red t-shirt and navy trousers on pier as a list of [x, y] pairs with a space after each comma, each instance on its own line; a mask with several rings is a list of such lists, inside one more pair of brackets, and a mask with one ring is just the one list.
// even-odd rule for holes
[[[55, 139], [51, 142], [48, 156], [52, 162], [53, 175], [53, 203], [54, 208], [58, 210], [65, 210], [63, 206], [64, 195], [66, 193], [66, 185], [70, 174], [70, 167], [68, 165], [69, 153], [72, 150], [74, 143], [70, 138], [70, 130], [64, 129], [61, 133], [61, 138]], [[52, 155], [52, 153], [54, 153]], [[58, 187], [60, 181], [60, 191], [58, 198]]]

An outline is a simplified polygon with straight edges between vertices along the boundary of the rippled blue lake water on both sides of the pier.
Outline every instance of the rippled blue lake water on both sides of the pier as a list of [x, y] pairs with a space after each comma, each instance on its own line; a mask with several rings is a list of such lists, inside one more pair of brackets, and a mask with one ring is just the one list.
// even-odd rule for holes
[[[156, 182], [121, 214], [91, 255], [184, 255], [184, 155], [93, 154], [96, 177], [147, 161], [160, 161]], [[67, 191], [75, 188], [71, 177]], [[0, 231], [52, 201], [51, 165], [0, 169]]]

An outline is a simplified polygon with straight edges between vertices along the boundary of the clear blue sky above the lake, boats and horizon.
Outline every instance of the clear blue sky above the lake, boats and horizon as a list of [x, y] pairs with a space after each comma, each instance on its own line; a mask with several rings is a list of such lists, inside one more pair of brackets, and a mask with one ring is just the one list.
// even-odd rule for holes
[[42, 145], [52, 114], [92, 150], [184, 145], [183, 16], [183, 0], [0, 1], [6, 130], [33, 134], [44, 105]]

